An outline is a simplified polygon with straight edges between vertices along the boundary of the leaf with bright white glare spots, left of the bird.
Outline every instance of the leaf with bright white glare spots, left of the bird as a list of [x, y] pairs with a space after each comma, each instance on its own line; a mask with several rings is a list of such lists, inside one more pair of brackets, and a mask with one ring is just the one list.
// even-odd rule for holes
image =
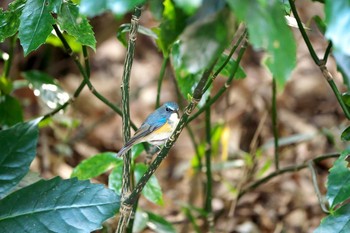
[[34, 90], [34, 95], [39, 96], [49, 108], [55, 109], [69, 100], [69, 94], [48, 74], [31, 70], [22, 75], [30, 82], [29, 87]]

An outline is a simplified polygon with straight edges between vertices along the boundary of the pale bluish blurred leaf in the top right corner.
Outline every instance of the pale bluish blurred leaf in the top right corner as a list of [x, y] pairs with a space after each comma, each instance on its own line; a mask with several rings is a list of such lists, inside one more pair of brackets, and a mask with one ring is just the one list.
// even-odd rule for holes
[[350, 1], [326, 0], [326, 37], [336, 50], [350, 56]]

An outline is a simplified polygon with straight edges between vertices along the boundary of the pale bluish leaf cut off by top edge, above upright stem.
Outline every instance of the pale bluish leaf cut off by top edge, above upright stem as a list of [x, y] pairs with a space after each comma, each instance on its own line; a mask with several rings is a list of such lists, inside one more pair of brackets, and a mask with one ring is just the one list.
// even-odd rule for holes
[[117, 16], [123, 16], [144, 2], [145, 0], [81, 0], [80, 13], [94, 17], [106, 11], [111, 11]]

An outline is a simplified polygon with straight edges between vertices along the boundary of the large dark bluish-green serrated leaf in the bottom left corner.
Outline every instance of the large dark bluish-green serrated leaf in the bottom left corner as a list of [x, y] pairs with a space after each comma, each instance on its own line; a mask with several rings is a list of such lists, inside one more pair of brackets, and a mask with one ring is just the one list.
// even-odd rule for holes
[[101, 184], [56, 177], [36, 182], [2, 199], [0, 229], [91, 232], [102, 228], [103, 221], [112, 217], [119, 206], [120, 197]]

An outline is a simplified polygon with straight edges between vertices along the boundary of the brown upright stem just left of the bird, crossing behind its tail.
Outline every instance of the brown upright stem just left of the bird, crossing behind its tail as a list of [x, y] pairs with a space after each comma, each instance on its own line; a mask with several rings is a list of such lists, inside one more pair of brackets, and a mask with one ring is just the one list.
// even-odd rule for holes
[[[137, 38], [137, 28], [138, 21], [141, 16], [141, 7], [136, 7], [134, 14], [131, 18], [131, 27], [129, 33], [129, 41], [127, 47], [127, 53], [124, 61], [124, 71], [121, 84], [122, 91], [122, 124], [123, 124], [123, 138], [124, 142], [127, 142], [130, 139], [130, 108], [129, 108], [129, 81], [130, 81], [130, 72], [134, 59], [135, 44]], [[122, 181], [122, 201], [127, 198], [131, 192], [131, 152], [128, 151], [124, 154], [124, 164], [123, 164], [123, 181]], [[137, 202], [135, 202], [137, 203]], [[134, 204], [134, 203], [133, 203]], [[125, 232], [129, 217], [130, 211], [133, 207], [131, 206], [122, 206], [121, 215], [119, 218], [117, 232]], [[130, 226], [132, 228], [132, 226]]]

